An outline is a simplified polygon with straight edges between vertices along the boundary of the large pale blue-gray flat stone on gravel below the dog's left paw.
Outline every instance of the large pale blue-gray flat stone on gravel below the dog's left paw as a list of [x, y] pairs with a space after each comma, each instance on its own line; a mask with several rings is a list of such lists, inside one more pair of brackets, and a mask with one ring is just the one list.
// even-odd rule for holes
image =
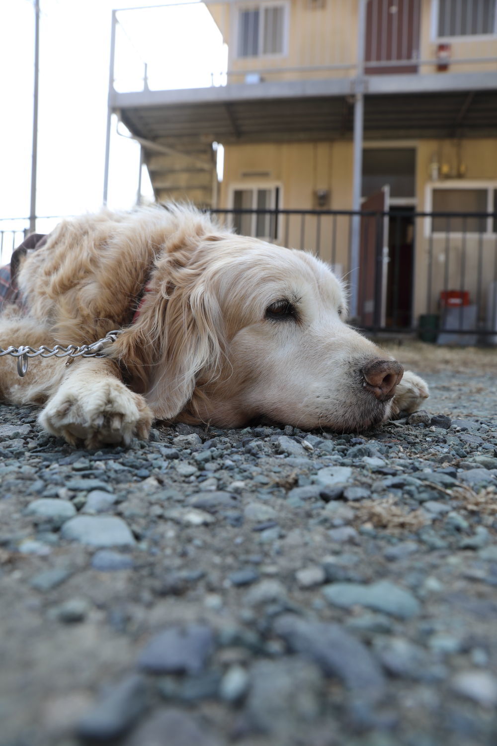
[[63, 525], [61, 534], [64, 539], [93, 547], [136, 544], [127, 524], [115, 515], [76, 515]]

